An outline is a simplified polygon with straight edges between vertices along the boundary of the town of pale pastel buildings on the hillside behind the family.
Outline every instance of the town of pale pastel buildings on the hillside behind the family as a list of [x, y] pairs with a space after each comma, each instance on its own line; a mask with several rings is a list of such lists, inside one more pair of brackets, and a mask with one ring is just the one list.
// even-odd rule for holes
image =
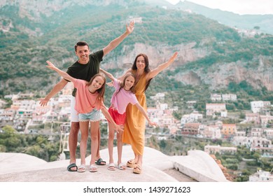
[[[38, 130], [32, 127], [45, 125], [52, 122], [69, 122], [71, 88], [66, 87], [47, 106], [40, 106], [38, 100], [34, 100], [34, 94], [10, 94], [5, 99], [10, 99], [12, 104], [6, 108], [6, 102], [0, 100], [0, 133], [1, 127], [12, 126], [20, 134], [35, 134]], [[165, 103], [165, 93], [157, 93], [150, 97], [155, 102], [155, 107], [148, 107], [149, 118], [158, 123], [162, 132], [157, 133], [158, 139], [167, 139], [173, 135], [195, 137], [196, 139], [222, 139], [229, 141], [231, 147], [211, 146], [204, 147], [204, 151], [210, 155], [235, 154], [237, 146], [246, 146], [250, 151], [258, 151], [262, 157], [273, 158], [273, 116], [272, 104], [258, 100], [251, 102], [251, 111], [244, 113], [244, 120], [236, 124], [227, 124], [223, 121], [230, 116], [225, 102], [236, 102], [236, 94], [211, 94], [211, 102], [206, 104], [206, 111], [195, 111], [195, 100], [186, 102], [186, 107], [191, 113], [184, 114], [180, 120], [173, 116], [174, 111], [179, 111], [179, 106], [169, 108]], [[4, 109], [6, 108], [6, 109]], [[102, 116], [104, 118], [104, 116]], [[104, 118], [104, 120], [106, 120]], [[248, 125], [248, 126], [240, 126]], [[147, 132], [151, 133], [147, 123]], [[67, 149], [69, 150], [69, 149]], [[251, 181], [258, 181], [259, 174], [251, 177]], [[267, 179], [271, 179], [267, 178]], [[262, 181], [262, 180], [261, 180]]]

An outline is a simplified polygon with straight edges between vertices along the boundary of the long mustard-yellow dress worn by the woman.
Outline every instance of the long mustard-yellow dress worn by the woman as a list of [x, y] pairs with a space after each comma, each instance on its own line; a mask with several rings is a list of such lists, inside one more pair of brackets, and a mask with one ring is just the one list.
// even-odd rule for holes
[[[146, 95], [144, 89], [146, 87], [146, 73], [142, 74], [141, 78], [135, 86], [136, 97], [139, 104], [147, 111]], [[137, 106], [128, 104], [126, 109], [125, 129], [123, 133], [123, 143], [131, 144], [132, 150], [137, 155], [143, 155], [145, 145], [145, 125], [146, 118], [137, 109]]]

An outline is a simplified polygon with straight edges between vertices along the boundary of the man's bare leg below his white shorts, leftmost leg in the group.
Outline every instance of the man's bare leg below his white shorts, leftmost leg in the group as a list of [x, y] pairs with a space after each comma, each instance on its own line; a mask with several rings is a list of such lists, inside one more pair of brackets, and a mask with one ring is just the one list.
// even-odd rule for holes
[[[78, 143], [79, 129], [80, 129], [80, 124], [78, 122], [71, 122], [71, 130], [69, 133], [70, 164], [76, 163], [76, 148]], [[76, 167], [72, 167], [71, 170], [76, 171]]]

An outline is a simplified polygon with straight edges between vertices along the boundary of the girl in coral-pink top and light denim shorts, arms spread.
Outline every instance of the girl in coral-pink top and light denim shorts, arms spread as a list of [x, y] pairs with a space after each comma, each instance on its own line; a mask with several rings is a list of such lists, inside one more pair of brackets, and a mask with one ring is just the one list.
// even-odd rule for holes
[[90, 82], [80, 80], [69, 76], [68, 73], [61, 71], [54, 64], [47, 61], [48, 68], [59, 73], [64, 79], [73, 82], [74, 87], [77, 89], [75, 110], [79, 113], [80, 122], [80, 167], [78, 172], [85, 172], [85, 154], [87, 148], [88, 128], [89, 122], [91, 124], [91, 160], [90, 172], [97, 172], [95, 165], [95, 155], [99, 148], [97, 135], [99, 132], [100, 111], [109, 120], [113, 126], [113, 130], [123, 132], [123, 129], [118, 126], [111, 118], [109, 112], [104, 106], [104, 92], [106, 78], [101, 73], [94, 75]]

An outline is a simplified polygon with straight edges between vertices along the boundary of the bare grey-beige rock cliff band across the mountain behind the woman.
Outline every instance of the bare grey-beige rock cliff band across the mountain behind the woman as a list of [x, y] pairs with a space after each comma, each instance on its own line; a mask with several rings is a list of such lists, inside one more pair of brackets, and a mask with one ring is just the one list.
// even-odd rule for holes
[[[211, 50], [207, 47], [195, 48], [195, 43], [186, 45], [158, 45], [155, 48], [152, 45], [144, 43], [135, 43], [134, 46], [125, 46], [123, 51], [125, 56], [107, 57], [102, 66], [107, 69], [118, 69], [120, 65], [124, 69], [129, 69], [132, 66], [134, 57], [146, 51], [149, 57], [149, 63], [152, 68], [166, 62], [171, 57], [173, 51], [179, 52], [179, 57], [176, 62], [169, 67], [169, 70], [175, 70], [179, 66], [185, 66], [183, 71], [179, 71], [175, 76], [170, 76], [187, 85], [200, 85], [202, 83], [209, 85], [211, 89], [220, 89], [227, 87], [229, 83], [240, 83], [246, 81], [255, 89], [266, 87], [267, 90], [273, 90], [273, 57], [262, 56], [253, 58], [251, 61], [239, 60], [230, 63], [217, 63], [204, 69], [187, 69], [187, 62], [194, 62], [197, 59], [210, 54]], [[164, 54], [164, 55], [163, 55]]]

